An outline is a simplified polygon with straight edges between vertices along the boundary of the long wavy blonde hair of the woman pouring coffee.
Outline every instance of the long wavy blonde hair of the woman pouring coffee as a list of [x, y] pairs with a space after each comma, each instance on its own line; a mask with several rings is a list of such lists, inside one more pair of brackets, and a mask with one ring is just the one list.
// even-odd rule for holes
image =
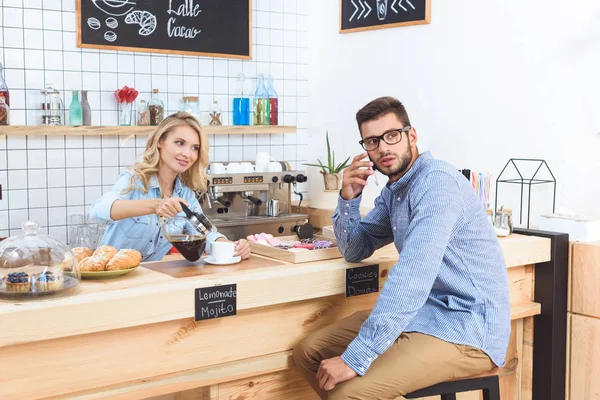
[[[148, 193], [150, 179], [158, 174], [158, 166], [160, 163], [160, 149], [158, 146], [167, 138], [167, 135], [178, 126], [189, 126], [196, 131], [200, 140], [198, 158], [187, 171], [179, 174], [179, 179], [182, 184], [195, 192], [206, 190], [207, 176], [204, 169], [208, 165], [208, 138], [204, 131], [202, 131], [200, 123], [192, 114], [178, 112], [165, 118], [148, 138], [142, 160], [131, 166], [131, 169], [133, 170], [131, 186], [129, 186], [125, 192], [140, 190], [143, 193]], [[140, 183], [142, 187], [140, 187]]]

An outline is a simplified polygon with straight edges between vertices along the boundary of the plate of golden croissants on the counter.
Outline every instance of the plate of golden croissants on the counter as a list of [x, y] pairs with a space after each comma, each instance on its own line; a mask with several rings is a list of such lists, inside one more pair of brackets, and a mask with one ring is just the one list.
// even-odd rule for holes
[[74, 247], [82, 279], [103, 279], [125, 275], [140, 266], [142, 254], [134, 249], [118, 250], [113, 246], [100, 246], [95, 251], [87, 247]]

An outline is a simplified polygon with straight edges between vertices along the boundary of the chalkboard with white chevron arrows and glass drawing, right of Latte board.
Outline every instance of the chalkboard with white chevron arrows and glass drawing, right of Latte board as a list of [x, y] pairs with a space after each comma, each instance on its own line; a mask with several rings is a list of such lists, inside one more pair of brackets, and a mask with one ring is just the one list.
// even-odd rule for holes
[[340, 0], [340, 32], [428, 24], [431, 0]]

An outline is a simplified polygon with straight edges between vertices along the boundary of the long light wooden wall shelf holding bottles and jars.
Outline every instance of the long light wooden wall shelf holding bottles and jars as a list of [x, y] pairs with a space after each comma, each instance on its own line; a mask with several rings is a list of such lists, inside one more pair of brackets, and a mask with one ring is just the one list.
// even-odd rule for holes
[[[130, 136], [149, 135], [155, 126], [0, 126], [0, 136]], [[268, 133], [296, 133], [295, 126], [282, 125], [205, 125], [202, 127], [208, 135], [248, 135]]]

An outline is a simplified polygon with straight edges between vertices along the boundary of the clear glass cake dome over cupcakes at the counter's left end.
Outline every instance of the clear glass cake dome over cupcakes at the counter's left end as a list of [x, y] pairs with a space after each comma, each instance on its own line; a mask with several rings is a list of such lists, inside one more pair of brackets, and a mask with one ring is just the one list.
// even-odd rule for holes
[[39, 234], [37, 222], [23, 224], [24, 235], [0, 242], [0, 295], [73, 294], [81, 281], [77, 258], [66, 244]]

